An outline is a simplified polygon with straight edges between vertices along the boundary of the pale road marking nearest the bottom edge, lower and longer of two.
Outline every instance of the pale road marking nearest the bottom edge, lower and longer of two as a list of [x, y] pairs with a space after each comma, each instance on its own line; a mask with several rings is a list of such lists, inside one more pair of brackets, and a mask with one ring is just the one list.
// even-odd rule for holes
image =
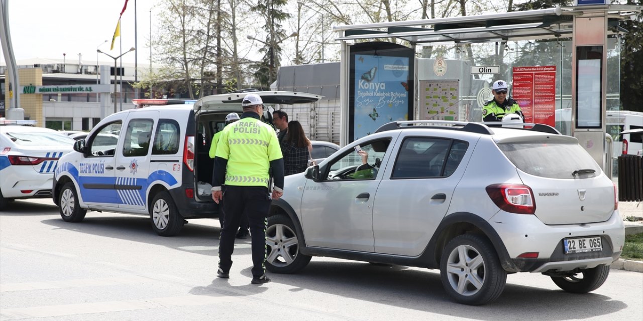
[[239, 302], [246, 299], [230, 295], [183, 295], [180, 297], [160, 297], [154, 299], [61, 304], [58, 306], [36, 306], [31, 308], [1, 309], [0, 321], [23, 318], [62, 317], [88, 313], [109, 313], [140, 309], [158, 309], [176, 306], [199, 306]]

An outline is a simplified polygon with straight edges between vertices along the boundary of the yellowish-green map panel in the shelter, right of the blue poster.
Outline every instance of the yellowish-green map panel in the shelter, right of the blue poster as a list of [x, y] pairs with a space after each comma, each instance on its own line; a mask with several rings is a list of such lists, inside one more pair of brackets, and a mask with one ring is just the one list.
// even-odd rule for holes
[[458, 80], [421, 80], [420, 119], [458, 121]]

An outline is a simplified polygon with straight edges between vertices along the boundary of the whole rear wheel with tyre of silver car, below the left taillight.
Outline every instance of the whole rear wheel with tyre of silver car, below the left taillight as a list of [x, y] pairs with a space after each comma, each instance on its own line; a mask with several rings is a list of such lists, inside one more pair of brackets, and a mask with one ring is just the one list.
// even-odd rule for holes
[[493, 245], [484, 236], [464, 234], [444, 247], [440, 259], [442, 286], [457, 302], [478, 306], [497, 299], [507, 272]]

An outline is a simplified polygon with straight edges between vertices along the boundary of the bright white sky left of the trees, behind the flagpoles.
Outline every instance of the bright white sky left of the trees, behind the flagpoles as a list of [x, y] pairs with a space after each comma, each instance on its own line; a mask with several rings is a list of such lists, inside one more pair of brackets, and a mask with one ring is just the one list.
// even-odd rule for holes
[[[9, 3], [9, 28], [15, 59], [63, 59], [96, 64], [96, 48], [112, 56], [120, 55], [120, 38], [110, 51], [118, 16], [125, 0], [5, 0]], [[154, 5], [158, 0], [129, 0], [121, 21], [123, 52], [134, 47], [134, 3], [138, 27], [137, 50], [123, 55], [123, 62], [149, 64], [150, 10], [154, 30]], [[107, 42], [105, 42], [107, 40]], [[136, 55], [135, 55], [136, 54]], [[0, 55], [5, 65], [5, 56]], [[114, 60], [99, 54], [99, 61], [111, 65]]]

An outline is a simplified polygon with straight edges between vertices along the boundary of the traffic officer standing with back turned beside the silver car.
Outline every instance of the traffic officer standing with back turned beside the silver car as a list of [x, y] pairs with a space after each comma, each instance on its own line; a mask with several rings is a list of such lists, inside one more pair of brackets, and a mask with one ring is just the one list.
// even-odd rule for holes
[[[223, 228], [219, 238], [219, 270], [217, 275], [230, 277], [235, 232], [242, 215], [250, 221], [252, 239], [253, 284], [270, 282], [266, 276], [266, 216], [271, 202], [268, 191], [269, 169], [272, 168], [275, 189], [272, 199], [284, 193], [284, 160], [275, 130], [260, 120], [263, 101], [257, 94], [248, 94], [241, 103], [241, 119], [226, 126], [217, 145], [214, 159], [212, 198], [223, 198]], [[226, 185], [226, 193], [221, 184]]]

